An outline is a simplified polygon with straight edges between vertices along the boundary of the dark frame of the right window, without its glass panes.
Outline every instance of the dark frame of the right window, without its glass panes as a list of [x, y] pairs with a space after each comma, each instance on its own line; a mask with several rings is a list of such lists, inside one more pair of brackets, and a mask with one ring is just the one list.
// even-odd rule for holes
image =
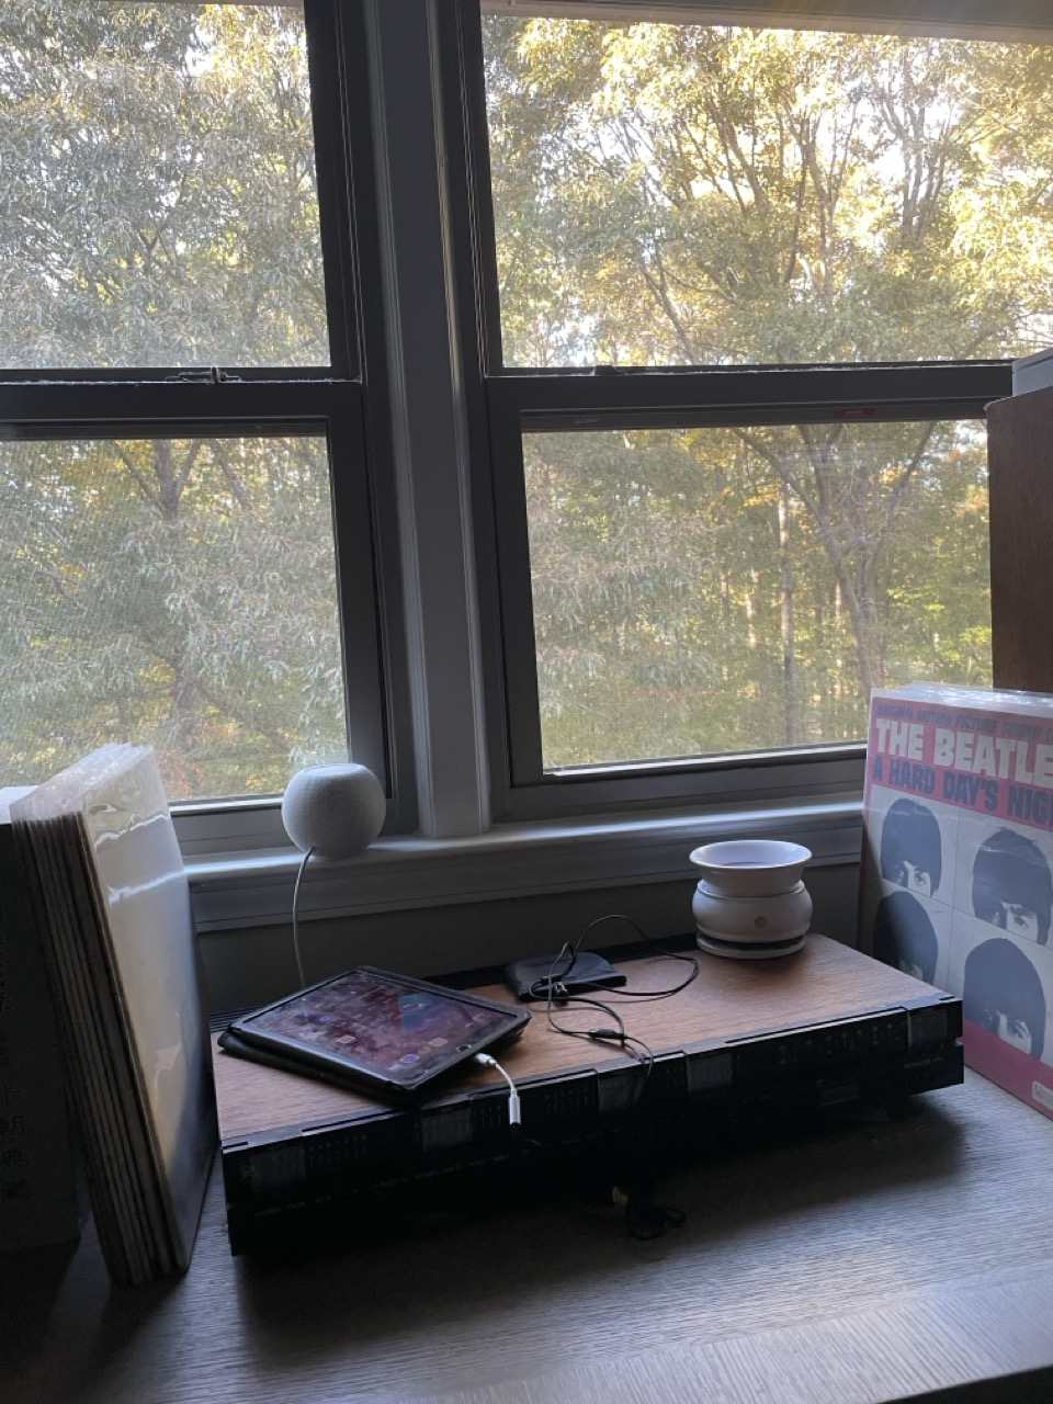
[[[459, 244], [459, 316], [472, 378], [466, 402], [476, 463], [476, 542], [490, 708], [491, 806], [496, 819], [529, 821], [689, 803], [736, 807], [786, 796], [861, 789], [865, 743], [713, 757], [583, 765], [545, 771], [529, 574], [522, 437], [531, 431], [670, 428], [986, 417], [1012, 393], [1012, 361], [865, 362], [750, 366], [505, 366], [501, 357], [496, 233], [483, 76], [482, 10], [650, 17], [695, 22], [880, 29], [865, 0], [455, 0], [442, 29], [445, 121], [459, 157], [452, 187]], [[980, 4], [946, 20], [942, 0], [896, 7], [910, 32], [995, 37]], [[896, 18], [896, 14], [892, 15]], [[1040, 34], [1053, 21], [1033, 0], [1000, 11], [998, 37]], [[470, 348], [470, 350], [468, 350]]]

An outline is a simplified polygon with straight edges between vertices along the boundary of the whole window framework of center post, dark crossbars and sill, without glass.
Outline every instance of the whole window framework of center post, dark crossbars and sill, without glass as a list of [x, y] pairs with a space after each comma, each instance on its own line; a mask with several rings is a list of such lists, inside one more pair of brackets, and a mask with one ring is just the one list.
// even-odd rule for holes
[[[904, 8], [911, 4], [904, 0]], [[941, 4], [932, 0], [914, 10], [934, 13]], [[812, 13], [820, 7], [820, 0], [800, 6]], [[691, 8], [705, 11], [705, 0]], [[712, 15], [713, 7], [708, 8]], [[760, 8], [762, 0], [748, 13], [757, 15]], [[841, 0], [827, 8], [840, 11]], [[865, 8], [862, 0], [856, 8]], [[981, 13], [979, 3], [973, 8]], [[1024, 7], [1018, 3], [1014, 15], [1028, 8], [1035, 18], [1032, 0]], [[720, 10], [726, 14], [729, 4]], [[359, 489], [365, 484], [369, 501], [372, 543], [361, 559], [372, 570], [372, 658], [379, 675], [373, 716], [383, 739], [389, 820], [373, 851], [347, 870], [334, 866], [323, 875], [319, 896], [313, 889], [307, 893], [303, 915], [680, 882], [691, 876], [684, 855], [701, 841], [699, 834], [792, 833], [813, 848], [817, 862], [854, 863], [862, 746], [789, 761], [755, 755], [673, 767], [640, 762], [619, 767], [618, 775], [590, 768], [536, 781], [524, 771], [515, 751], [522, 696], [510, 687], [505, 670], [507, 642], [519, 653], [525, 647], [515, 636], [517, 583], [510, 576], [517, 531], [519, 550], [525, 542], [521, 418], [529, 416], [536, 427], [546, 424], [546, 414], [563, 424], [576, 413], [602, 413], [607, 423], [625, 427], [626, 413], [650, 416], [660, 403], [665, 423], [677, 417], [696, 423], [696, 396], [705, 385], [708, 421], [720, 423], [723, 416], [729, 423], [727, 416], [741, 413], [741, 396], [755, 385], [755, 373], [675, 368], [651, 371], [644, 380], [636, 369], [591, 375], [494, 368], [489, 357], [497, 327], [496, 265], [484, 257], [486, 107], [482, 67], [472, 67], [472, 55], [482, 52], [479, 0], [305, 0], [305, 15], [327, 300], [343, 307], [354, 296], [359, 309], [357, 326], [348, 323], [343, 333], [348, 338], [344, 378], [337, 373], [336, 345], [333, 366], [298, 369], [295, 379], [268, 369], [247, 371], [240, 383], [213, 383], [216, 376], [208, 369], [170, 372], [176, 383], [163, 371], [0, 372], [0, 424], [24, 424], [34, 432], [87, 432], [117, 418], [107, 406], [126, 406], [129, 396], [136, 406], [154, 406], [157, 416], [147, 421], [136, 409], [132, 432], [146, 431], [150, 423], [168, 428], [191, 420], [216, 423], [234, 404], [250, 416], [247, 424], [288, 423], [288, 403], [275, 413], [275, 395], [285, 393], [275, 380], [310, 396], [305, 402], [310, 413], [300, 423], [323, 423], [319, 406], [331, 396], [341, 423], [354, 416], [361, 425], [355, 451], [361, 446], [364, 462], [347, 458], [347, 473]], [[1012, 15], [1002, 10], [1000, 18], [1008, 24]], [[1049, 21], [1043, 34], [1047, 27]], [[402, 187], [402, 194], [393, 187]], [[414, 225], [409, 233], [407, 219]], [[427, 256], [427, 271], [420, 268], [421, 256]], [[417, 296], [421, 286], [427, 307]], [[358, 355], [357, 378], [350, 373], [352, 354]], [[420, 365], [406, 372], [410, 355], [438, 366], [432, 403], [421, 403]], [[769, 368], [779, 376], [771, 383], [781, 389], [765, 402], [764, 413], [772, 417], [769, 423], [786, 423], [796, 396], [789, 407], [800, 417], [803, 390], [795, 389], [793, 376], [813, 388], [812, 409], [821, 416], [845, 402], [875, 403], [878, 388], [893, 385], [894, 372], [904, 368], [862, 369], [882, 371], [883, 378], [868, 388], [856, 366]], [[908, 369], [914, 375], [918, 368]], [[974, 362], [958, 388], [946, 379], [946, 362], [931, 369], [928, 399], [914, 402], [918, 411], [945, 414], [958, 406], [972, 416], [1009, 393], [1009, 362]], [[639, 382], [630, 400], [629, 376]], [[694, 396], [687, 402], [678, 383], [684, 376]], [[820, 376], [827, 376], [826, 389]], [[733, 378], [741, 382], [737, 389]], [[856, 399], [848, 397], [849, 385]], [[348, 410], [348, 402], [357, 410]], [[438, 430], [435, 404], [442, 411]], [[126, 414], [121, 418], [126, 421]], [[448, 458], [438, 475], [431, 461], [437, 438]], [[494, 444], [500, 448], [505, 439], [518, 448], [498, 455]], [[418, 491], [437, 476], [435, 493], [458, 498], [463, 512], [465, 531], [458, 521], [455, 539], [448, 518], [437, 521], [427, 493]], [[336, 479], [334, 491], [343, 493]], [[452, 505], [451, 515], [456, 515]], [[451, 559], [456, 571], [448, 567]], [[437, 583], [449, 578], [455, 587], [442, 594], [442, 611], [427, 614]], [[528, 577], [525, 585], [529, 595]], [[437, 622], [439, 612], [446, 618]], [[532, 650], [532, 621], [529, 628]], [[508, 639], [505, 630], [511, 630]], [[451, 639], [459, 651], [448, 647]], [[296, 855], [281, 827], [278, 799], [174, 809], [202, 929], [285, 922]], [[449, 965], [445, 956], [432, 962], [432, 967], [442, 965]]]

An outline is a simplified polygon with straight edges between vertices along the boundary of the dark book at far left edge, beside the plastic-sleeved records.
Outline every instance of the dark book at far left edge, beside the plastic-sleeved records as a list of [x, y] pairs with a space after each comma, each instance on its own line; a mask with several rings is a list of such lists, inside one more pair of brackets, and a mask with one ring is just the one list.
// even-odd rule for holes
[[11, 830], [11, 803], [31, 788], [0, 789], [0, 1250], [80, 1234], [55, 1015]]

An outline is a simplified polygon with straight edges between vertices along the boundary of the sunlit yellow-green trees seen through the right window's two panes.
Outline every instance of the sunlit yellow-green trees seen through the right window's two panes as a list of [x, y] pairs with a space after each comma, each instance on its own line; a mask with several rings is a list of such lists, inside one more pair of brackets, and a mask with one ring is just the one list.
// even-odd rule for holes
[[[1045, 49], [510, 17], [487, 18], [484, 37], [507, 364], [969, 358], [1047, 336]], [[709, 637], [694, 644], [699, 677], [717, 656], [741, 673], [698, 727], [670, 699], [680, 740], [649, 730], [654, 696], [639, 681], [635, 755], [717, 750], [705, 737], [729, 729], [736, 748], [859, 736], [872, 685], [990, 668], [986, 469], [972, 427], [699, 431], [680, 437], [675, 473], [654, 431], [635, 453], [608, 455], [602, 486], [598, 438], [587, 451], [567, 441], [546, 511], [531, 497], [550, 764], [623, 754], [625, 717], [605, 737], [594, 720], [578, 748], [557, 739], [571, 715], [595, 719], [595, 680], [625, 657], [625, 628], [640, 647], [668, 639], [670, 609], [684, 657], [691, 616]], [[731, 482], [739, 505], [726, 515]], [[650, 555], [616, 553], [619, 511], [639, 529], [650, 512], [665, 521], [661, 562], [657, 532]], [[727, 522], [716, 552], [713, 521]], [[965, 556], [960, 542], [943, 546], [960, 526]], [[576, 570], [557, 600], [563, 549]], [[663, 594], [674, 567], [680, 584]], [[649, 569], [661, 607], [640, 585]], [[611, 602], [629, 595], [618, 644], [602, 644]]]

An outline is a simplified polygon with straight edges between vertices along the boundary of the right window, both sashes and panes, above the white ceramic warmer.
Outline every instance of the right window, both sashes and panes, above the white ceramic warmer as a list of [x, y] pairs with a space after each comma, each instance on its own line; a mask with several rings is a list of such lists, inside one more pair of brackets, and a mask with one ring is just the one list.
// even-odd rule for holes
[[990, 682], [1053, 35], [800, 8], [465, 11], [512, 817], [842, 783], [872, 685]]

